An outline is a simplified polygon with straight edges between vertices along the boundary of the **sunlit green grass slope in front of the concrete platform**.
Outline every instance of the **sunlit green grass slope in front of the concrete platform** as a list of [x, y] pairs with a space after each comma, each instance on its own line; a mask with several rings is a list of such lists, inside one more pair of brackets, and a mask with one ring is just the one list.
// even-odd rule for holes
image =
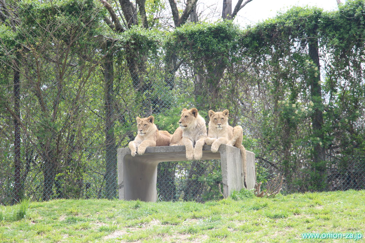
[[[354, 242], [302, 233], [365, 234], [365, 191], [274, 198], [235, 192], [195, 202], [23, 201], [0, 207], [2, 242]], [[364, 238], [356, 242], [365, 242]]]

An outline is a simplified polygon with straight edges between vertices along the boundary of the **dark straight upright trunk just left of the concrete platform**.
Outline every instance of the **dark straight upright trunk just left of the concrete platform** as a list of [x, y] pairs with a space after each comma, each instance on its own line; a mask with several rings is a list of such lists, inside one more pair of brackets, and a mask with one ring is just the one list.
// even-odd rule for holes
[[104, 56], [105, 84], [105, 192], [108, 199], [116, 197], [116, 145], [114, 137], [113, 108], [113, 54], [110, 50]]

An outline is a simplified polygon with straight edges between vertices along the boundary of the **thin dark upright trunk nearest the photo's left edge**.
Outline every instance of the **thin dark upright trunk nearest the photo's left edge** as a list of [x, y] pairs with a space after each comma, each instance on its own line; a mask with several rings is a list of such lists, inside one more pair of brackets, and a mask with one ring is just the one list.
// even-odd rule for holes
[[[20, 118], [20, 73], [14, 69], [14, 113]], [[14, 118], [14, 198], [13, 203], [18, 203], [23, 197], [20, 163], [20, 125]]]

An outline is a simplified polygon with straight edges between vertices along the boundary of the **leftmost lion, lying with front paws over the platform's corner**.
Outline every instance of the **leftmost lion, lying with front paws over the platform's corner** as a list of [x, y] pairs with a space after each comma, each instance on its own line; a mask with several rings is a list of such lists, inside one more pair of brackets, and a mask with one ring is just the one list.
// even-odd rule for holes
[[131, 150], [131, 155], [135, 156], [137, 153], [142, 155], [145, 153], [147, 147], [154, 146], [169, 146], [170, 137], [172, 136], [168, 131], [159, 131], [157, 126], [153, 123], [155, 118], [150, 115], [147, 118], [137, 119], [137, 136], [134, 141], [129, 142], [129, 149]]

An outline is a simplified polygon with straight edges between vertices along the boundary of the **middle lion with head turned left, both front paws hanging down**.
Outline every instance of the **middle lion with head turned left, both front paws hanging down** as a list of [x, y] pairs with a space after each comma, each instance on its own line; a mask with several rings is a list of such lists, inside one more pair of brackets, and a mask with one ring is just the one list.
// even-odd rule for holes
[[[179, 120], [180, 126], [170, 139], [170, 146], [185, 145], [188, 160], [200, 160], [203, 156], [203, 145], [207, 137], [205, 120], [196, 108], [184, 108]], [[193, 145], [195, 144], [195, 147]]]

